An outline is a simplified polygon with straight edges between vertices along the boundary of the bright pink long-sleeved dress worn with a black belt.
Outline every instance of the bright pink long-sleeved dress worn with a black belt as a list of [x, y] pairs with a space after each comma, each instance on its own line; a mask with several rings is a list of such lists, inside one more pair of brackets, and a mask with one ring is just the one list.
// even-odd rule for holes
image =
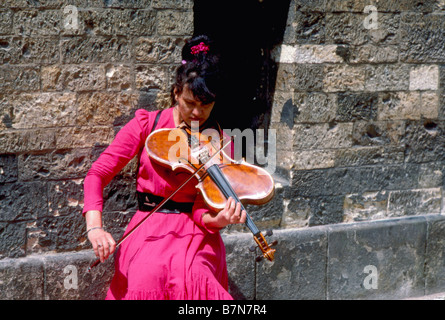
[[[84, 182], [84, 209], [103, 207], [103, 188], [145, 145], [157, 112], [136, 111], [111, 145], [92, 165]], [[174, 128], [173, 108], [166, 109], [156, 129]], [[187, 175], [140, 157], [137, 190], [167, 197]], [[156, 212], [130, 235], [115, 255], [115, 274], [106, 299], [232, 299], [228, 293], [226, 252], [219, 230], [206, 228], [205, 203], [193, 180], [172, 199], [194, 202], [191, 213]], [[147, 212], [137, 211], [127, 231]]]

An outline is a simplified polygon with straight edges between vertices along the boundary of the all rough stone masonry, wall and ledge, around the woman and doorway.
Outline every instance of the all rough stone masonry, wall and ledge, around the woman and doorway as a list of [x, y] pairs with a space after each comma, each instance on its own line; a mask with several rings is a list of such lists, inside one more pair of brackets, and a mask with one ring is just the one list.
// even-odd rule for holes
[[[83, 178], [136, 109], [169, 106], [193, 19], [192, 0], [1, 1], [1, 299], [103, 298], [111, 261], [83, 272]], [[278, 258], [255, 266], [246, 230], [225, 230], [234, 297], [445, 291], [444, 39], [442, 0], [290, 2], [266, 115], [277, 192], [252, 208]], [[134, 170], [104, 193], [115, 238]]]

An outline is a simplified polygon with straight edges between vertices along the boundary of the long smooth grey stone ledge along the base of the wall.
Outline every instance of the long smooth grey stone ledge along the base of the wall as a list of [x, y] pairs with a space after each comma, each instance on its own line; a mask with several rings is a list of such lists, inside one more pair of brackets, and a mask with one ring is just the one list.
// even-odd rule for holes
[[[255, 263], [247, 233], [223, 234], [239, 300], [409, 299], [445, 291], [445, 216], [276, 230], [273, 262]], [[0, 260], [2, 300], [103, 299], [113, 259], [91, 250]]]

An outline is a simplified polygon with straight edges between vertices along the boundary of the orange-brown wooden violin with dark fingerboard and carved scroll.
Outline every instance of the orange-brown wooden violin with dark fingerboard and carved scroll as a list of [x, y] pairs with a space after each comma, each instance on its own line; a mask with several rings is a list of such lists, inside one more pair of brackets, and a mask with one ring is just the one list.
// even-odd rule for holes
[[[153, 131], [147, 137], [145, 149], [155, 162], [192, 174], [198, 180], [196, 188], [214, 212], [223, 209], [229, 197], [240, 202], [246, 212], [245, 204], [270, 201], [275, 190], [272, 176], [261, 167], [230, 158], [223, 150], [222, 138], [217, 130], [198, 132], [183, 124], [175, 129]], [[257, 261], [273, 261], [276, 250], [269, 246], [248, 213], [245, 224], [262, 253]]]

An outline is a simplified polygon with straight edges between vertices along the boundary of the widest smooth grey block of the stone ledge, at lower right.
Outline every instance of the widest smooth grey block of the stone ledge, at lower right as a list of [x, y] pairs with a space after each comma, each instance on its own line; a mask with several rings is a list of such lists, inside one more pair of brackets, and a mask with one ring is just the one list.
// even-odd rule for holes
[[332, 226], [327, 298], [403, 299], [424, 294], [425, 218]]

